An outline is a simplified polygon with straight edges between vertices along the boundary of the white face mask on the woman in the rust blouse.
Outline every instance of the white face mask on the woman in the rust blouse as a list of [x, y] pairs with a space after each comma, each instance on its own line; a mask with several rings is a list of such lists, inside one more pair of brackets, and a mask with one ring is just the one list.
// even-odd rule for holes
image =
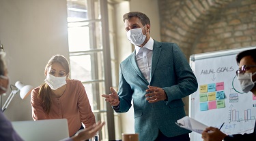
[[44, 80], [53, 90], [58, 89], [59, 87], [65, 85], [66, 76], [65, 77], [55, 77], [53, 75], [47, 74], [46, 79]]

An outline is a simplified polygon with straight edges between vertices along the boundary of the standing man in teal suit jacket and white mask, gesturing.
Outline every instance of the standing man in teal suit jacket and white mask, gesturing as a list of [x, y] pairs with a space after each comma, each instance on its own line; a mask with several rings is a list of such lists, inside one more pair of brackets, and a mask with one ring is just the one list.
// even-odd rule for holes
[[102, 95], [117, 113], [134, 106], [135, 132], [140, 141], [190, 140], [190, 131], [175, 125], [186, 116], [182, 98], [197, 90], [197, 79], [175, 43], [150, 37], [150, 19], [141, 12], [124, 14], [134, 52], [119, 66], [119, 90]]

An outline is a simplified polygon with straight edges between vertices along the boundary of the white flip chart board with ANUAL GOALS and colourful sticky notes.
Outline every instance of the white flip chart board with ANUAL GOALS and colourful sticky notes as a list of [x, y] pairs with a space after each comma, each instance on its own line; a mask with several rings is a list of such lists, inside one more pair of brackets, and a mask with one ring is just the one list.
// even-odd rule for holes
[[[189, 117], [212, 127], [221, 127], [225, 134], [253, 132], [256, 119], [256, 98], [244, 94], [236, 77], [236, 55], [242, 47], [190, 56], [190, 66], [199, 87], [190, 95]], [[192, 132], [192, 141], [201, 141], [201, 134]]]

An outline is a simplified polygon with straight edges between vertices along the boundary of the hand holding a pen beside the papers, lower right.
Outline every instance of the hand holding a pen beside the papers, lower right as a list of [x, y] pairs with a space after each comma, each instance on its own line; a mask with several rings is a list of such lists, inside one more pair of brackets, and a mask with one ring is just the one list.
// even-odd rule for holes
[[223, 127], [224, 123], [218, 129], [216, 127], [207, 127], [203, 133], [202, 138], [204, 141], [221, 141], [227, 135], [221, 132], [221, 128]]

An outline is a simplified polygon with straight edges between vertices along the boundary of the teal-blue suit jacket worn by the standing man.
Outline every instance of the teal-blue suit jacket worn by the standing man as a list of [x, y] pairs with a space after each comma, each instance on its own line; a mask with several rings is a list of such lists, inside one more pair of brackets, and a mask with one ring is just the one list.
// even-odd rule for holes
[[[165, 90], [168, 101], [147, 102], [147, 85]], [[175, 43], [154, 41], [151, 81], [147, 82], [137, 66], [135, 51], [119, 66], [119, 108], [117, 113], [134, 106], [135, 132], [140, 141], [155, 140], [158, 129], [165, 136], [188, 134], [190, 131], [175, 125], [177, 119], [186, 116], [182, 98], [197, 90], [197, 79], [188, 61]]]

